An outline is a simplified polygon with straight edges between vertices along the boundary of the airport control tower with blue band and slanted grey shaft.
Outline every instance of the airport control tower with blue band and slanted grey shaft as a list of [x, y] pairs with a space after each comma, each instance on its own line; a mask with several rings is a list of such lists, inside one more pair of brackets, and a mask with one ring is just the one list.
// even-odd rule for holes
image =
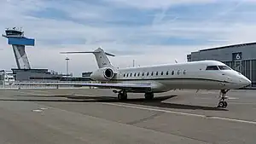
[[7, 37], [8, 44], [13, 46], [18, 69], [31, 69], [26, 56], [25, 46], [34, 46], [35, 39], [24, 37], [24, 32], [16, 27], [7, 28], [3, 37]]

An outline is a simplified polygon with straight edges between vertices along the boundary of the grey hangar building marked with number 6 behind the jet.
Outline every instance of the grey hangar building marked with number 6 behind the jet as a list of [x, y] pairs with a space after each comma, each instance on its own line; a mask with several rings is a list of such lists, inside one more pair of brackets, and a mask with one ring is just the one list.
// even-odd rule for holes
[[252, 81], [256, 87], [256, 43], [202, 49], [187, 55], [188, 61], [219, 60]]

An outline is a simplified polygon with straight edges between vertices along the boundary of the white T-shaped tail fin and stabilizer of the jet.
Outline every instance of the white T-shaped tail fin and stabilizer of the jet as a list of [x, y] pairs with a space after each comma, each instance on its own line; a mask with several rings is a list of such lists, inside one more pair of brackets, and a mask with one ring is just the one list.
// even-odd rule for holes
[[102, 68], [102, 67], [114, 68], [114, 66], [111, 64], [110, 60], [108, 60], [108, 56], [107, 56], [107, 55], [109, 55], [109, 56], [114, 56], [114, 55], [104, 52], [104, 50], [101, 48], [98, 48], [94, 51], [61, 52], [61, 54], [82, 54], [82, 53], [94, 54], [99, 68]]

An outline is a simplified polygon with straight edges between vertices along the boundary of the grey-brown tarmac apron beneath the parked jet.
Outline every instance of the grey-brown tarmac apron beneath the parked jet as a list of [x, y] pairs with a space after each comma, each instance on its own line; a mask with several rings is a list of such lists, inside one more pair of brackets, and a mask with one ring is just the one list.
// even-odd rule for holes
[[0, 89], [0, 143], [4, 144], [254, 144], [255, 90], [227, 93], [175, 90], [128, 93], [112, 89]]

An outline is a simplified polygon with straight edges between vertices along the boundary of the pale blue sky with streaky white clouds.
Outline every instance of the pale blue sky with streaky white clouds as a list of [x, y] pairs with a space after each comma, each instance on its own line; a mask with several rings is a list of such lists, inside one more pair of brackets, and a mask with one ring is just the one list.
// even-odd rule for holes
[[[187, 61], [196, 50], [256, 41], [256, 0], [0, 0], [0, 30], [22, 27], [32, 68], [96, 70], [101, 47], [119, 68]], [[0, 69], [16, 68], [13, 49], [0, 37]]]

